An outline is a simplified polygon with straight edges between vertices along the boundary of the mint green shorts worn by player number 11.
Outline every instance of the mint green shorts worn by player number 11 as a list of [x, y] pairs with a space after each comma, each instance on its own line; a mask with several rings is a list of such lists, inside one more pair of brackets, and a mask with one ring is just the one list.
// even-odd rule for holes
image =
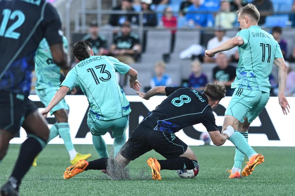
[[230, 115], [244, 122], [244, 117], [251, 123], [261, 113], [269, 99], [269, 93], [260, 90], [236, 88], [228, 104], [225, 115]]

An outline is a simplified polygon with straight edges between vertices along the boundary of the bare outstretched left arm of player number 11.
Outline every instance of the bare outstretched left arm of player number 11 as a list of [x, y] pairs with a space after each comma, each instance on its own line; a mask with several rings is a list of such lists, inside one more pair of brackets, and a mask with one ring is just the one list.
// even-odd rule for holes
[[242, 37], [240, 37], [240, 36], [233, 37], [230, 40], [227, 40], [226, 42], [224, 42], [223, 44], [221, 44], [220, 46], [218, 46], [216, 48], [213, 48], [211, 50], [205, 50], [205, 56], [213, 57], [218, 52], [227, 51], [227, 50], [230, 50], [236, 46], [241, 46], [243, 44], [244, 44], [244, 41], [243, 41]]

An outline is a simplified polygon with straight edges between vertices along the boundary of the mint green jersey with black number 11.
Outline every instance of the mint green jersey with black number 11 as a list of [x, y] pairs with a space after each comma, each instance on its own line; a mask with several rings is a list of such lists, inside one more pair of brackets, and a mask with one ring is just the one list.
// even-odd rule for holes
[[231, 88], [269, 93], [269, 75], [274, 59], [283, 58], [279, 44], [271, 34], [256, 25], [239, 31], [236, 36], [242, 37], [244, 44], [238, 47], [240, 59]]

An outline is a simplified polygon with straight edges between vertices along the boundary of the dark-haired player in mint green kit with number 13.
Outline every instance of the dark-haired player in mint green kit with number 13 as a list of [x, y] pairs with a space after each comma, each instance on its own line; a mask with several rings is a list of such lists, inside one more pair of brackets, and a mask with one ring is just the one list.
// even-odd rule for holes
[[88, 41], [79, 41], [73, 46], [73, 54], [78, 62], [69, 71], [60, 89], [53, 96], [44, 116], [57, 106], [65, 95], [75, 86], [79, 86], [88, 98], [89, 112], [87, 124], [92, 134], [93, 145], [100, 157], [108, 157], [106, 144], [102, 135], [112, 130], [114, 154], [126, 142], [125, 130], [129, 124], [130, 104], [120, 88], [115, 72], [130, 76], [130, 87], [140, 90], [137, 71], [129, 65], [109, 56], [94, 56]]

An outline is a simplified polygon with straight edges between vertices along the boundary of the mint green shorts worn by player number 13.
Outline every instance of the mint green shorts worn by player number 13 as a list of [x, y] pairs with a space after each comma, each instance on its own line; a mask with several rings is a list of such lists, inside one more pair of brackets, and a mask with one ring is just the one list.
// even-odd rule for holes
[[111, 129], [113, 137], [120, 137], [129, 125], [129, 115], [113, 120], [98, 120], [89, 112], [87, 125], [94, 136], [104, 135]]

